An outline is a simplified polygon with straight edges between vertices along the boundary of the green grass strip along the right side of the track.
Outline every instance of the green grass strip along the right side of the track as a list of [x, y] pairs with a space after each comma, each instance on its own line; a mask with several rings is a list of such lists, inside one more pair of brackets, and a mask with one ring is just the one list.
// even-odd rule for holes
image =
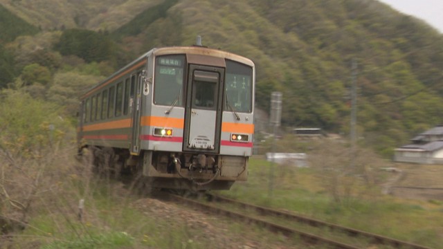
[[[272, 177], [270, 169], [273, 169]], [[326, 185], [324, 174], [315, 168], [271, 166], [262, 158], [252, 158], [248, 181], [237, 182], [230, 191], [217, 194], [431, 248], [443, 245], [442, 202], [383, 195], [379, 185], [368, 185], [361, 179], [352, 182], [353, 190], [341, 192], [337, 200], [326, 187], [345, 189], [345, 183]], [[390, 173], [378, 174], [381, 179], [390, 177], [386, 175]], [[271, 178], [272, 185], [269, 184]]]

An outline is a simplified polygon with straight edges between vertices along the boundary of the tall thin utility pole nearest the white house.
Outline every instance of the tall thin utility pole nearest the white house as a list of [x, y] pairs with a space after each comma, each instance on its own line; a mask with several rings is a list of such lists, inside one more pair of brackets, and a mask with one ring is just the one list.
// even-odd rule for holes
[[355, 169], [355, 157], [356, 157], [356, 123], [357, 123], [357, 87], [356, 87], [356, 78], [357, 78], [357, 62], [356, 59], [352, 59], [352, 86], [351, 86], [351, 171]]

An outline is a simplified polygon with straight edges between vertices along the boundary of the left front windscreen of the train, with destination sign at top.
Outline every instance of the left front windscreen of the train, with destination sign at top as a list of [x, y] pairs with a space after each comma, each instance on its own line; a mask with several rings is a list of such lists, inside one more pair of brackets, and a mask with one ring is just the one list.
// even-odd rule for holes
[[185, 55], [156, 57], [154, 104], [183, 107], [184, 68]]

